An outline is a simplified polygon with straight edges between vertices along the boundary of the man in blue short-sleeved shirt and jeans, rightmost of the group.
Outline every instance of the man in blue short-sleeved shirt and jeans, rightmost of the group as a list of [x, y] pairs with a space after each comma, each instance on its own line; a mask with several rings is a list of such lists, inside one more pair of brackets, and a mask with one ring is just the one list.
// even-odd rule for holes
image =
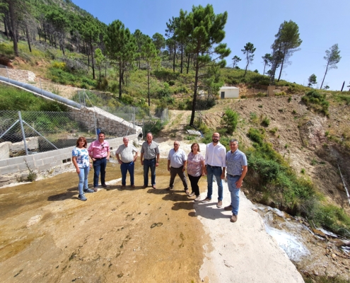
[[226, 154], [226, 178], [228, 190], [231, 192], [231, 204], [224, 209], [232, 211], [231, 222], [237, 221], [240, 204], [240, 187], [248, 171], [247, 157], [238, 149], [237, 139], [230, 141], [231, 151]]

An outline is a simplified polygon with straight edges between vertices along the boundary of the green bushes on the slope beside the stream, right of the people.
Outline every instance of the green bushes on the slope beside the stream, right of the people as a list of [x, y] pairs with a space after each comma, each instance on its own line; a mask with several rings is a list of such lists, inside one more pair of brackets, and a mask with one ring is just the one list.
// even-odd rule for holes
[[[307, 216], [316, 225], [335, 233], [344, 236], [348, 233], [350, 217], [339, 207], [322, 204], [313, 183], [294, 173], [284, 158], [272, 149], [272, 144], [264, 141], [262, 129], [251, 127], [247, 136], [253, 141], [253, 148], [246, 151], [251, 173], [245, 180], [254, 190], [262, 192], [261, 201], [267, 204], [273, 201], [280, 209]], [[305, 169], [301, 173], [304, 174]]]

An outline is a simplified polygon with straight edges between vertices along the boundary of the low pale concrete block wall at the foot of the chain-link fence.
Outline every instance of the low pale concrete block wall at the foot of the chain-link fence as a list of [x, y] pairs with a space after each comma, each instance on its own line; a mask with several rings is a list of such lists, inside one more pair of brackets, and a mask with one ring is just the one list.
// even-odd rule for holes
[[[129, 140], [137, 139], [137, 134], [129, 135]], [[112, 154], [115, 153], [118, 146], [123, 143], [123, 138], [118, 137], [116, 139], [107, 139], [110, 144]], [[89, 146], [90, 144], [88, 144]], [[71, 151], [74, 146], [67, 147], [66, 149], [57, 149], [54, 151], [42, 152], [40, 154], [33, 154], [29, 156], [18, 156], [14, 158], [8, 158], [0, 160], [0, 187], [9, 183], [16, 183], [22, 180], [26, 180], [29, 171], [28, 166], [37, 175], [42, 177], [57, 175], [65, 171], [69, 171], [74, 168], [71, 162]], [[25, 164], [25, 161], [27, 164]]]

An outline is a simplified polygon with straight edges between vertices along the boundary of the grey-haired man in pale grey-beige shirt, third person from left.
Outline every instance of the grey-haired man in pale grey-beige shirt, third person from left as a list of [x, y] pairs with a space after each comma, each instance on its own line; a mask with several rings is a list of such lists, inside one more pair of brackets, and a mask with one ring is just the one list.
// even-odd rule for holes
[[[130, 174], [130, 183], [132, 183], [132, 187], [135, 187], [134, 168], [139, 151], [133, 144], [129, 144], [128, 137], [123, 137], [123, 143], [124, 144], [119, 146], [117, 151], [115, 151], [115, 156], [117, 156], [118, 162], [120, 164], [120, 171], [122, 171], [122, 187], [125, 187], [125, 185], [127, 185], [127, 171], [129, 171]], [[134, 152], [136, 153], [135, 156]]]

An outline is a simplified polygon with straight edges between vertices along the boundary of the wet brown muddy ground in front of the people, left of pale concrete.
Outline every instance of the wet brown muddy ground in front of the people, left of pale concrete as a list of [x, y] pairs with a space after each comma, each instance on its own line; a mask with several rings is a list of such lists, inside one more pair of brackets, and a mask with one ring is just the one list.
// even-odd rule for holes
[[[76, 173], [2, 188], [0, 281], [199, 282], [209, 236], [180, 179], [179, 190], [165, 190], [165, 163], [156, 190], [141, 189], [138, 160], [136, 188], [119, 182], [86, 194], [86, 202], [77, 199]], [[107, 180], [120, 177], [109, 163]]]

